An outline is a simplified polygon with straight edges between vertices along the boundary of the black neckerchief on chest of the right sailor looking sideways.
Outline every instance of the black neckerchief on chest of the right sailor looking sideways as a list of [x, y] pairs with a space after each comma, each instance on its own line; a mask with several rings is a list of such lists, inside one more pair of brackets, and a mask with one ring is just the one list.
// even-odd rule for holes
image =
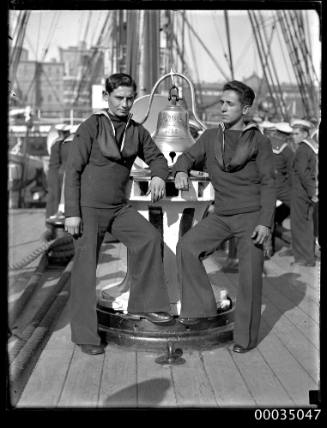
[[225, 172], [234, 172], [243, 168], [246, 162], [251, 159], [257, 150], [255, 135], [260, 132], [258, 127], [253, 123], [247, 125], [243, 130], [238, 140], [236, 150], [231, 161], [227, 164], [224, 163], [223, 151], [225, 148], [225, 125], [219, 122], [217, 130], [218, 144], [215, 144], [215, 156], [220, 168]]

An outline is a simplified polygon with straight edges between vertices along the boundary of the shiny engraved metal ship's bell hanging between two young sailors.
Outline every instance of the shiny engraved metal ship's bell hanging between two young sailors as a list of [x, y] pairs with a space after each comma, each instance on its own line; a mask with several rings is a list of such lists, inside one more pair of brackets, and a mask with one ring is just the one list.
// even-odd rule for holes
[[195, 143], [189, 129], [188, 111], [175, 103], [168, 105], [159, 112], [157, 129], [152, 139], [164, 154], [168, 165], [172, 165], [178, 155]]

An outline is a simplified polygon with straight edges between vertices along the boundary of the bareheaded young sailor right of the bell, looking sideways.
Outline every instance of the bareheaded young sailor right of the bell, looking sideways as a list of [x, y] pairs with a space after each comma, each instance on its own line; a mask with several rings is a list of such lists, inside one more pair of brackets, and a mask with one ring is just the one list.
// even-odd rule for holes
[[180, 322], [194, 325], [217, 315], [216, 299], [202, 259], [235, 236], [239, 257], [234, 352], [258, 342], [264, 251], [276, 204], [271, 143], [256, 124], [245, 125], [255, 94], [239, 81], [225, 84], [222, 122], [204, 131], [173, 166], [177, 189], [188, 188], [188, 172], [205, 161], [215, 189], [214, 212], [186, 232], [177, 244], [181, 286]]

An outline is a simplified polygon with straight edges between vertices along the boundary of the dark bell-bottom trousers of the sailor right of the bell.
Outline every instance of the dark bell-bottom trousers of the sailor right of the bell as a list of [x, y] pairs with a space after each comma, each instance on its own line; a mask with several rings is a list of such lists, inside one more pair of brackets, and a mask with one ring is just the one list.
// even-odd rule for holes
[[181, 285], [181, 317], [217, 315], [216, 299], [202, 259], [232, 236], [237, 238], [239, 284], [236, 295], [234, 341], [254, 347], [261, 319], [263, 248], [251, 235], [259, 213], [231, 216], [210, 214], [190, 229], [177, 244], [177, 267]]

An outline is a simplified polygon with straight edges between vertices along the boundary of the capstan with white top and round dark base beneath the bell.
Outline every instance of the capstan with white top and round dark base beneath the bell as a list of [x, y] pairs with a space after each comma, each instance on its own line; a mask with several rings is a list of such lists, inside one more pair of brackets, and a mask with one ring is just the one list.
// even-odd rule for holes
[[[204, 350], [232, 340], [234, 326], [234, 302], [227, 310], [217, 311], [217, 316], [203, 318], [195, 325], [179, 322], [179, 296], [175, 249], [179, 236], [200, 221], [213, 200], [213, 188], [205, 174], [191, 177], [188, 191], [177, 191], [173, 179], [168, 179], [166, 197], [151, 205], [146, 195], [149, 174], [144, 169], [132, 171], [130, 202], [147, 220], [158, 227], [163, 235], [163, 261], [173, 320], [169, 324], [154, 324], [143, 317], [113, 309], [110, 287], [104, 287], [98, 297], [97, 315], [99, 334], [107, 343], [143, 351], [166, 351], [158, 358], [159, 364], [180, 364], [182, 351]], [[170, 182], [169, 182], [170, 181]], [[118, 285], [120, 292], [127, 292], [131, 278], [128, 269], [124, 280]], [[117, 290], [117, 285], [115, 285]], [[177, 348], [178, 347], [178, 348]]]

